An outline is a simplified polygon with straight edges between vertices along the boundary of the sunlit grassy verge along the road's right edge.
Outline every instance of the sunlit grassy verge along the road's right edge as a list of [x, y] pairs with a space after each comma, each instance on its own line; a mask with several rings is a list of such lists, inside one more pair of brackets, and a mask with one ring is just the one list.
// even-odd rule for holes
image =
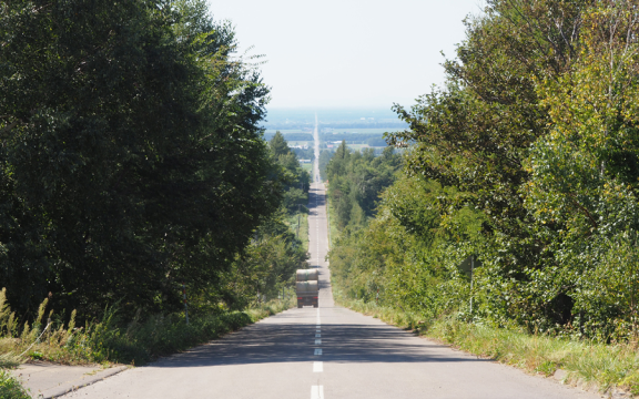
[[345, 299], [339, 295], [335, 299], [353, 310], [527, 372], [551, 376], [561, 369], [566, 371], [566, 383], [595, 387], [600, 392], [611, 392], [619, 387], [632, 395], [639, 393], [639, 354], [630, 345], [602, 345], [530, 335], [521, 330], [469, 324], [453, 317], [429, 323], [420, 319], [416, 313]]

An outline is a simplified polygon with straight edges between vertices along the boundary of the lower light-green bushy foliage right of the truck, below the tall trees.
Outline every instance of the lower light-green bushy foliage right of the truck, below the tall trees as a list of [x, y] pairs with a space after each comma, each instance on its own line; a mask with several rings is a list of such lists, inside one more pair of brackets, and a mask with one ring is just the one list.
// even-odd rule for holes
[[382, 194], [366, 227], [345, 229], [329, 257], [347, 298], [376, 299], [427, 318], [457, 309], [469, 295], [457, 265], [480, 247], [483, 218], [469, 208], [443, 217], [439, 198], [453, 195], [404, 176]]

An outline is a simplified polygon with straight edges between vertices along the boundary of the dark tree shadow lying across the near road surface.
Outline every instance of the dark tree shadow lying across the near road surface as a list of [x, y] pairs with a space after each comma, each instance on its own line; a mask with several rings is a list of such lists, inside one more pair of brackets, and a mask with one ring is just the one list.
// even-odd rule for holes
[[[163, 359], [148, 367], [203, 367], [287, 361], [347, 362], [458, 362], [490, 361], [464, 354], [442, 355], [442, 345], [424, 345], [405, 331], [390, 326], [322, 325], [322, 346], [315, 341], [315, 325], [294, 323], [294, 309], [278, 315], [278, 323], [261, 323], [223, 339]], [[308, 314], [313, 315], [314, 311]], [[290, 318], [291, 323], [286, 319]], [[325, 318], [325, 317], [324, 317]], [[324, 354], [314, 356], [314, 348]], [[448, 352], [449, 354], [449, 352]]]

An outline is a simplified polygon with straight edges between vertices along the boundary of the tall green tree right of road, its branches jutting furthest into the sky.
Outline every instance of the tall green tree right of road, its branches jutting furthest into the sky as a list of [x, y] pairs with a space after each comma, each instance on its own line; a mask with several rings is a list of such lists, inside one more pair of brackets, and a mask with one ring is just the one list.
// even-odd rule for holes
[[491, 245], [483, 254], [483, 286], [500, 293], [486, 308], [495, 319], [514, 317], [529, 327], [570, 319], [565, 289], [547, 296], [530, 284], [531, 270], [556, 264], [550, 238], [534, 232], [523, 187], [530, 180], [529, 150], [550, 132], [537, 82], [560, 78], [578, 59], [582, 14], [592, 3], [489, 1], [484, 16], [467, 20], [458, 60], [445, 62], [446, 85], [410, 111], [395, 108], [409, 130], [388, 139], [415, 143], [408, 172], [458, 191], [445, 213], [470, 204], [487, 216], [483, 228]]

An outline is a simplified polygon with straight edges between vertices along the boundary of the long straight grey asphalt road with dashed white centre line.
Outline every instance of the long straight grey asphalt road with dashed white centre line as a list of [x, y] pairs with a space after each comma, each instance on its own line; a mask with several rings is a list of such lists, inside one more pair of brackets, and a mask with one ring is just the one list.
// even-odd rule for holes
[[65, 398], [599, 398], [335, 307], [324, 186], [311, 188], [320, 308], [291, 309]]

